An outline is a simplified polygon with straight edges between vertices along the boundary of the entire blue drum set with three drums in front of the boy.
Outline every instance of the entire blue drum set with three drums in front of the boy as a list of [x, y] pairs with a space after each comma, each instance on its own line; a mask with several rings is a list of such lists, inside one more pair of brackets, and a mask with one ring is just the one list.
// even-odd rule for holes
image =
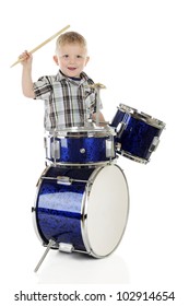
[[104, 258], [118, 247], [129, 214], [118, 156], [146, 164], [164, 128], [163, 121], [120, 104], [109, 125], [91, 121], [46, 132], [46, 168], [32, 208], [46, 250], [35, 272], [50, 249]]

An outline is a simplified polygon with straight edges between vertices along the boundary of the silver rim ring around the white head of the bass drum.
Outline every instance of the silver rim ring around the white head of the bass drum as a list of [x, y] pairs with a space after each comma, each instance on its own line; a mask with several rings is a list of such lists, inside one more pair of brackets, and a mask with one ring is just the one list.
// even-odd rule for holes
[[90, 243], [90, 238], [88, 238], [88, 235], [87, 235], [87, 207], [88, 207], [88, 199], [90, 199], [90, 193], [91, 193], [91, 190], [92, 190], [93, 183], [94, 183], [95, 178], [97, 177], [97, 175], [99, 174], [99, 172], [103, 170], [106, 166], [107, 165], [96, 167], [93, 170], [93, 173], [91, 174], [91, 176], [88, 177], [88, 181], [85, 186], [85, 191], [84, 191], [84, 195], [83, 195], [82, 205], [81, 205], [81, 208], [82, 208], [81, 215], [83, 216], [83, 219], [81, 220], [81, 232], [82, 232], [82, 237], [83, 237], [83, 244], [85, 246], [85, 249], [86, 249], [87, 254], [90, 254], [91, 256], [93, 256], [95, 258], [107, 257], [118, 248], [118, 246], [119, 246], [119, 244], [120, 244], [120, 242], [121, 242], [121, 239], [125, 235], [125, 232], [126, 232], [126, 227], [127, 227], [127, 223], [128, 223], [128, 219], [129, 219], [129, 211], [130, 211], [130, 195], [129, 195], [129, 186], [128, 186], [126, 175], [125, 175], [123, 170], [117, 164], [114, 164], [114, 165], [110, 164], [109, 166], [118, 167], [123, 175], [123, 179], [125, 179], [125, 183], [126, 183], [126, 186], [127, 186], [127, 191], [128, 191], [127, 215], [126, 215], [126, 220], [125, 220], [125, 226], [122, 228], [122, 234], [119, 237], [119, 240], [117, 242], [116, 246], [107, 255], [96, 254], [95, 250], [93, 250], [93, 247]]

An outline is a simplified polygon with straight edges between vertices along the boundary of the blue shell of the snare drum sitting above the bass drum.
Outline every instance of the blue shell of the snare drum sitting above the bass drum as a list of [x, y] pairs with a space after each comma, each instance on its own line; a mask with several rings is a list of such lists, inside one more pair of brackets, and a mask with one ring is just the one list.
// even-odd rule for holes
[[[54, 154], [54, 142], [56, 153]], [[93, 164], [115, 158], [114, 137], [47, 137], [46, 158], [61, 164]]]

